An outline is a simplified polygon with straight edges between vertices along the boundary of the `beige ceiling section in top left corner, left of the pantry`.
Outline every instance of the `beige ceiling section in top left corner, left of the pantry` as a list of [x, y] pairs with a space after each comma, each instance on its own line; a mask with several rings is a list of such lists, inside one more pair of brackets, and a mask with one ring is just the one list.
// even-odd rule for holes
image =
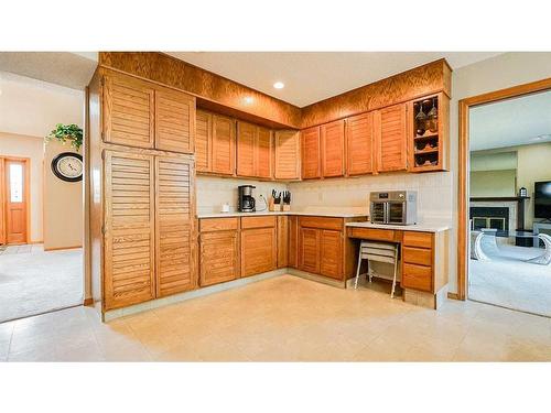
[[1, 52], [0, 70], [84, 90], [98, 65], [97, 52]]

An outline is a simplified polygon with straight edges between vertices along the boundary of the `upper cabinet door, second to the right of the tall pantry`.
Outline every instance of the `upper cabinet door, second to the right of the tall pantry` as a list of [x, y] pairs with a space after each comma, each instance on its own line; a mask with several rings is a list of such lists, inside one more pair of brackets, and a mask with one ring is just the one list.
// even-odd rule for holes
[[231, 118], [213, 115], [213, 172], [236, 173], [236, 126]]

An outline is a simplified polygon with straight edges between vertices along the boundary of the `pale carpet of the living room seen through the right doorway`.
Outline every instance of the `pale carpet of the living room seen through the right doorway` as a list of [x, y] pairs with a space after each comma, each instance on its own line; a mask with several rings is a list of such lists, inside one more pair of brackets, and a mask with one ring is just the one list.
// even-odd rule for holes
[[521, 261], [543, 250], [504, 246], [501, 251], [491, 261], [471, 260], [468, 297], [551, 317], [551, 265]]

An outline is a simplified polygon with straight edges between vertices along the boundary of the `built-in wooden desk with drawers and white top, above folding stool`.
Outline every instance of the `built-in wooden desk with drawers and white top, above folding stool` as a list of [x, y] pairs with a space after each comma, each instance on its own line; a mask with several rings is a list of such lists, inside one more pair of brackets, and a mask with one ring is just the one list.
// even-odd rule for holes
[[401, 287], [406, 302], [437, 308], [449, 280], [447, 225], [395, 226], [349, 222], [347, 237], [397, 242], [401, 251]]

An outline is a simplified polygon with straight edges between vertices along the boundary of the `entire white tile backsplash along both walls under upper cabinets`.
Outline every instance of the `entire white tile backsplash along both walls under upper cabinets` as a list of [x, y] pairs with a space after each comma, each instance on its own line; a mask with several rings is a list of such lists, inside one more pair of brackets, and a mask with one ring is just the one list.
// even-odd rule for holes
[[256, 186], [253, 196], [257, 199], [258, 210], [264, 207], [259, 195], [263, 195], [268, 200], [272, 189], [291, 191], [293, 210], [346, 213], [368, 213], [368, 196], [371, 191], [413, 189], [419, 195], [420, 221], [451, 221], [454, 205], [451, 172], [396, 173], [290, 184], [217, 176], [197, 176], [196, 181], [198, 214], [219, 213], [225, 203], [229, 203], [231, 211], [236, 210], [239, 185]]

